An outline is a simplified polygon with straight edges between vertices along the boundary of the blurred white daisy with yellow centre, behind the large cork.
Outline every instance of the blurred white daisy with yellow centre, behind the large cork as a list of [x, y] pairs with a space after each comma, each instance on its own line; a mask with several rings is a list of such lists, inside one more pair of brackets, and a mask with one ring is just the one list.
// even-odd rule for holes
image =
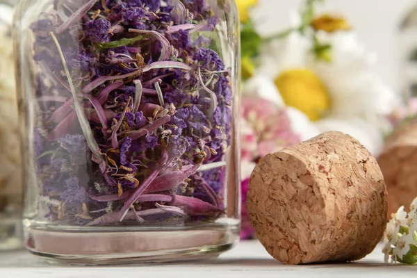
[[386, 116], [400, 97], [375, 74], [377, 59], [363, 49], [356, 33], [319, 31], [317, 38], [332, 45], [331, 62], [317, 60], [311, 39], [293, 32], [265, 46], [259, 73], [275, 80], [284, 102], [307, 115], [319, 131], [349, 133], [377, 155], [391, 129]]

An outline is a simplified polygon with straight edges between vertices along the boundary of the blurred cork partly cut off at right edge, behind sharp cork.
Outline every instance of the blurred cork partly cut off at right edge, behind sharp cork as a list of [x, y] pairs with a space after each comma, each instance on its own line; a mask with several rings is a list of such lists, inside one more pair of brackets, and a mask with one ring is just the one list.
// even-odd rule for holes
[[406, 208], [417, 196], [417, 120], [402, 124], [386, 140], [378, 158], [386, 189], [388, 215]]

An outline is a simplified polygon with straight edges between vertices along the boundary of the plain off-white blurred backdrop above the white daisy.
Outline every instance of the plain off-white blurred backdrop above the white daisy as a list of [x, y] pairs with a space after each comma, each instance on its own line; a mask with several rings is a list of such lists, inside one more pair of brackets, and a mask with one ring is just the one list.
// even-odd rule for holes
[[[263, 0], [254, 8], [254, 20], [261, 22], [259, 32], [269, 34], [282, 30], [289, 23], [288, 11], [299, 10], [302, 0]], [[413, 0], [332, 0], [322, 11], [347, 17], [356, 28], [366, 49], [377, 54], [376, 71], [387, 85], [398, 89], [398, 28]]]

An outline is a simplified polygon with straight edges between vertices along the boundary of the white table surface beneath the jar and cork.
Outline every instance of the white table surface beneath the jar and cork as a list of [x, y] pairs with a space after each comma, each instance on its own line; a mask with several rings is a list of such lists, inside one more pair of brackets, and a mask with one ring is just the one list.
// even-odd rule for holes
[[384, 264], [381, 247], [356, 263], [283, 265], [254, 240], [239, 243], [219, 259], [194, 263], [119, 265], [105, 267], [60, 266], [44, 263], [24, 251], [0, 252], [0, 278], [218, 278], [218, 277], [417, 277], [417, 265]]

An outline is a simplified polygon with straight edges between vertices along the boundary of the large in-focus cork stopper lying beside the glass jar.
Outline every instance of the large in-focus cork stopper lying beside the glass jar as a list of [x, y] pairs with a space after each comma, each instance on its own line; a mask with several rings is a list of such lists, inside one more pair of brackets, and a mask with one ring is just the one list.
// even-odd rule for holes
[[278, 261], [345, 262], [381, 240], [387, 193], [370, 152], [329, 132], [262, 158], [247, 206], [259, 240]]

